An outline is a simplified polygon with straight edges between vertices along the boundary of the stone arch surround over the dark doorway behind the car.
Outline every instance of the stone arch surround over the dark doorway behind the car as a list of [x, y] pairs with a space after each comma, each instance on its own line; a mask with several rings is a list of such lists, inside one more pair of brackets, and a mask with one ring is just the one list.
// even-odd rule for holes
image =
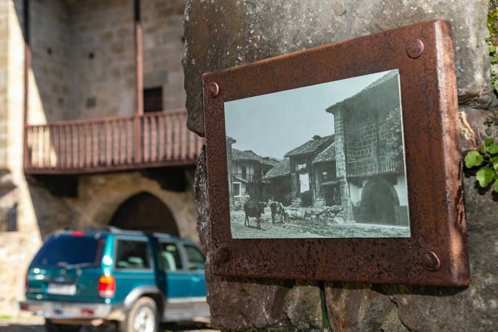
[[[142, 192], [156, 196], [171, 212], [181, 237], [199, 241], [192, 190], [174, 192], [139, 172], [102, 174], [80, 178], [79, 198], [74, 201], [79, 211], [78, 224], [109, 225], [120, 206]], [[77, 205], [77, 206], [76, 206]]]

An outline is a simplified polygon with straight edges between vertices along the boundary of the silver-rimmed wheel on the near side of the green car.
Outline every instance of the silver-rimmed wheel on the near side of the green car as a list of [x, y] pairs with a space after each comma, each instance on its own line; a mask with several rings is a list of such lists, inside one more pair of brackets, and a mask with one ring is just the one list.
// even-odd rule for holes
[[124, 320], [119, 324], [120, 332], [157, 332], [159, 325], [157, 305], [150, 297], [140, 297]]

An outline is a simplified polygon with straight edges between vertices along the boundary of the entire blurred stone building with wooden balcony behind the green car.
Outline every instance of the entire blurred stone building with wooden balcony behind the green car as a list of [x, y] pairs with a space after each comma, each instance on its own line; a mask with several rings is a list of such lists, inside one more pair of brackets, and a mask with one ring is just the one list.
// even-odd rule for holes
[[186, 127], [184, 8], [1, 1], [0, 316], [17, 315], [26, 268], [54, 230], [114, 225], [199, 241], [203, 140]]

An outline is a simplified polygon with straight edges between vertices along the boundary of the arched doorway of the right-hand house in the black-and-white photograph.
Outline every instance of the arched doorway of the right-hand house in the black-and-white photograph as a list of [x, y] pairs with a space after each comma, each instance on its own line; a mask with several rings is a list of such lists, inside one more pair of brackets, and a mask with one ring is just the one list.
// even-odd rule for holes
[[384, 178], [374, 178], [367, 182], [362, 192], [362, 222], [381, 225], [396, 225], [398, 194], [394, 185]]

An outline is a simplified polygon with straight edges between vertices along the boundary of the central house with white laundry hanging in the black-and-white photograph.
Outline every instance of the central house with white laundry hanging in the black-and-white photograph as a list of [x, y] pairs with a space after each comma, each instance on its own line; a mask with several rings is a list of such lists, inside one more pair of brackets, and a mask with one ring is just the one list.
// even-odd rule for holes
[[289, 158], [289, 167], [291, 169], [291, 205], [322, 206], [323, 201], [321, 199], [317, 201], [320, 188], [317, 188], [317, 181], [315, 181], [313, 160], [333, 142], [333, 135], [324, 137], [316, 135], [308, 142], [299, 145], [299, 147], [288, 151], [284, 155], [284, 158]]

